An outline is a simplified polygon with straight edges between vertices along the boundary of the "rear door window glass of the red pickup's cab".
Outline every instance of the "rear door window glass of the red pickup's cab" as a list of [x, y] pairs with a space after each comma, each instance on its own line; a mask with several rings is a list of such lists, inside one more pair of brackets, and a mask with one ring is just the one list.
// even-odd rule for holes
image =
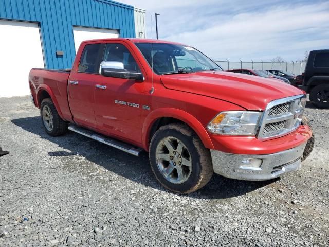
[[97, 73], [98, 52], [100, 44], [86, 45], [82, 51], [78, 71], [84, 73]]

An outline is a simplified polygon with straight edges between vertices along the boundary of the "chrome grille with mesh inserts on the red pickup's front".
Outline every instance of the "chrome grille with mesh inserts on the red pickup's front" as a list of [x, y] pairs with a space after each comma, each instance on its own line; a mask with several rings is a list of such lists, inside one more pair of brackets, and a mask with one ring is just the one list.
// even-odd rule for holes
[[259, 139], [270, 139], [290, 133], [299, 127], [304, 107], [304, 95], [271, 101], [263, 113]]

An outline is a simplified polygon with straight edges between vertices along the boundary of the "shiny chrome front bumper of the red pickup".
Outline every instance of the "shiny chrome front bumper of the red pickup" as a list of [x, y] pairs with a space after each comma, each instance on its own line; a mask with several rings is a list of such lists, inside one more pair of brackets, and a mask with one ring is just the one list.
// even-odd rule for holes
[[[261, 181], [298, 170], [305, 146], [306, 143], [296, 148], [264, 155], [232, 154], [212, 149], [210, 151], [215, 173], [231, 179]], [[262, 164], [260, 167], [248, 167], [243, 163], [248, 159], [262, 160]]]

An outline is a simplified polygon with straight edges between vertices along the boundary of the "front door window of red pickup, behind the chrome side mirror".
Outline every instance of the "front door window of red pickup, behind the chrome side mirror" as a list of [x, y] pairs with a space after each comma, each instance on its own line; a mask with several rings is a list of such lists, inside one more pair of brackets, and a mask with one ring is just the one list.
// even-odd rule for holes
[[127, 71], [140, 72], [140, 69], [130, 51], [122, 44], [108, 43], [102, 61], [122, 62]]

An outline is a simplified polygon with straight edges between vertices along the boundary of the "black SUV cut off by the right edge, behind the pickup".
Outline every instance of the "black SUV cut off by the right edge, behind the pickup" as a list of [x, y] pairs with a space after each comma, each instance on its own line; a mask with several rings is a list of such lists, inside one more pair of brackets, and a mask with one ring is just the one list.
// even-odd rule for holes
[[309, 52], [305, 72], [295, 86], [309, 93], [316, 107], [329, 108], [329, 49]]

